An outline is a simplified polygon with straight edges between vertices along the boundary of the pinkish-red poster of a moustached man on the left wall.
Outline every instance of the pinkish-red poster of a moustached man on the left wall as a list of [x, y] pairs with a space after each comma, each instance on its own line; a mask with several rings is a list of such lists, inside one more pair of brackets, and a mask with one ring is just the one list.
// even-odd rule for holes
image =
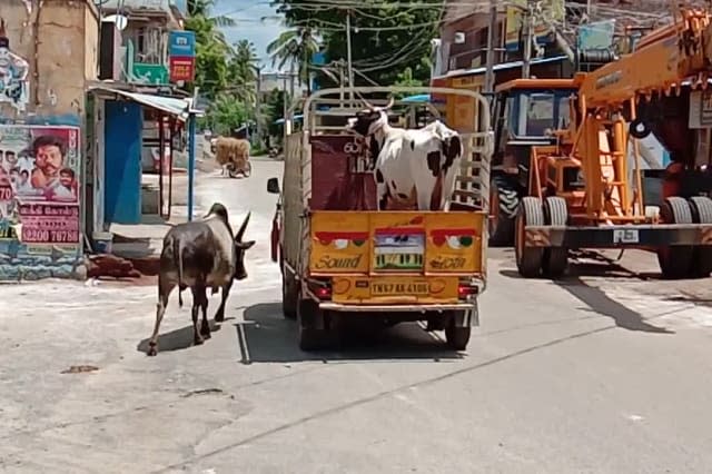
[[0, 239], [80, 243], [79, 128], [0, 126]]

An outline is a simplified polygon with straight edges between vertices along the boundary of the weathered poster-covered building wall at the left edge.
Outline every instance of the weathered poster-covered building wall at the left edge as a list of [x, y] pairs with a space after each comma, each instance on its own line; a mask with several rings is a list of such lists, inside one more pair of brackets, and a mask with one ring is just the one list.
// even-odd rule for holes
[[0, 2], [0, 280], [82, 274], [81, 127], [98, 45], [90, 0]]

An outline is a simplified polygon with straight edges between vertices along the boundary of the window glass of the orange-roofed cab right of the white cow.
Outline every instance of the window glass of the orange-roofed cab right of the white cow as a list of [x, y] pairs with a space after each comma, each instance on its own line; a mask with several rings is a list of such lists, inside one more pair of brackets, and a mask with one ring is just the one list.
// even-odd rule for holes
[[568, 96], [571, 92], [520, 92], [510, 97], [510, 132], [515, 137], [545, 137], [547, 129], [568, 126]]

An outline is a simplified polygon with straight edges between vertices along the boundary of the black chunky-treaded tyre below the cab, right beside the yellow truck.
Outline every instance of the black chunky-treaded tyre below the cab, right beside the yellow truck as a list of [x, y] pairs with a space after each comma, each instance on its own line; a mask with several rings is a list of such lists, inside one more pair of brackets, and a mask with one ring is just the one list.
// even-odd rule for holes
[[490, 245], [504, 247], [514, 244], [514, 221], [520, 206], [520, 196], [506, 180], [495, 177], [490, 188]]

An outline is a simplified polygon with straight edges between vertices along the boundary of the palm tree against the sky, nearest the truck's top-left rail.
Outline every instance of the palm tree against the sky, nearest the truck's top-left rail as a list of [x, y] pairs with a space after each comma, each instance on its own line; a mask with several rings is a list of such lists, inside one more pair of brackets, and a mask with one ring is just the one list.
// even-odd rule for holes
[[281, 69], [289, 63], [291, 70], [297, 69], [299, 79], [307, 85], [307, 91], [310, 93], [309, 66], [312, 57], [318, 49], [319, 43], [314, 28], [297, 27], [283, 32], [270, 42], [267, 46], [267, 53], [271, 57], [273, 66]]

